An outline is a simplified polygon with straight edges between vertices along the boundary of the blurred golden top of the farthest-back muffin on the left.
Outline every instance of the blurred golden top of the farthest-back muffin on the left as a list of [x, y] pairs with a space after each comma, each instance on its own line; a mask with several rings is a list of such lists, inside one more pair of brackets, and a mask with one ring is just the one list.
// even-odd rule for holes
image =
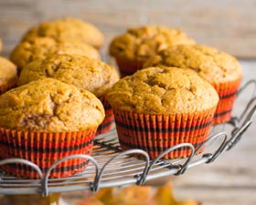
[[32, 27], [23, 37], [23, 41], [36, 36], [48, 36], [58, 42], [89, 44], [96, 48], [103, 45], [103, 35], [98, 28], [73, 17], [42, 22]]

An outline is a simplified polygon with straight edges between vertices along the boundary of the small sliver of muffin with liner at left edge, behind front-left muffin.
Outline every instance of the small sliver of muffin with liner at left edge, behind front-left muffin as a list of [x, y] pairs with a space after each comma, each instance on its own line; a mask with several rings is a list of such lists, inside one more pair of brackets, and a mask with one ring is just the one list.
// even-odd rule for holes
[[6, 90], [16, 87], [16, 66], [0, 56], [0, 95]]

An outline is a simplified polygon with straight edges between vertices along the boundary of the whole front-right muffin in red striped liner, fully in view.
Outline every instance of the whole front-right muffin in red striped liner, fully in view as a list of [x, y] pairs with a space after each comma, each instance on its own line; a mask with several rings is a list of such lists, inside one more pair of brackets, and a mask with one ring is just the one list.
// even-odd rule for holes
[[[191, 70], [148, 67], [123, 77], [108, 91], [123, 150], [144, 149], [151, 159], [180, 143], [195, 149], [208, 138], [219, 96]], [[203, 149], [200, 149], [202, 151]], [[165, 159], [185, 158], [176, 149]]]

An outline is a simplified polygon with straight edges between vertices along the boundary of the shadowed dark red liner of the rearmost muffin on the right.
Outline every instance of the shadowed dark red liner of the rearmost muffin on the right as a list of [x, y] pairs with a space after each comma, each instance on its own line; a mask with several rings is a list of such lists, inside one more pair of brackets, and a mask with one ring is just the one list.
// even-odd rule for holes
[[123, 58], [115, 58], [121, 77], [131, 76], [137, 70], [142, 69], [144, 61], [132, 61]]

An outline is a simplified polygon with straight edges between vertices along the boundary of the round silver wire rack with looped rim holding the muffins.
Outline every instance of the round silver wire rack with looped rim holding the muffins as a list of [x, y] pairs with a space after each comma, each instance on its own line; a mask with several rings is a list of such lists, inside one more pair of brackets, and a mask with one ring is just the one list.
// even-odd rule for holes
[[[42, 194], [65, 192], [74, 190], [97, 191], [101, 188], [123, 186], [129, 184], [143, 185], [145, 181], [158, 179], [170, 175], [181, 175], [187, 169], [195, 166], [211, 163], [220, 154], [232, 149], [244, 136], [244, 132], [250, 127], [253, 114], [256, 110], [256, 80], [247, 82], [238, 92], [238, 98], [246, 95], [247, 102], [242, 102], [240, 114], [235, 114], [228, 123], [212, 128], [208, 140], [201, 147], [194, 149], [191, 144], [184, 143], [166, 149], [155, 160], [150, 160], [147, 153], [141, 149], [122, 151], [119, 146], [115, 128], [107, 134], [97, 136], [94, 141], [92, 156], [73, 155], [60, 159], [49, 169], [45, 177], [37, 165], [25, 159], [0, 160], [0, 168], [7, 163], [24, 163], [36, 169], [40, 179], [16, 179], [8, 176], [0, 170], [0, 194]], [[241, 103], [240, 103], [241, 105]], [[205, 146], [203, 153], [198, 150]], [[186, 159], [161, 159], [167, 152], [187, 147], [191, 154]], [[133, 154], [140, 156], [134, 158]], [[69, 159], [88, 159], [89, 166], [82, 172], [69, 178], [49, 179], [49, 173], [59, 163]]]

